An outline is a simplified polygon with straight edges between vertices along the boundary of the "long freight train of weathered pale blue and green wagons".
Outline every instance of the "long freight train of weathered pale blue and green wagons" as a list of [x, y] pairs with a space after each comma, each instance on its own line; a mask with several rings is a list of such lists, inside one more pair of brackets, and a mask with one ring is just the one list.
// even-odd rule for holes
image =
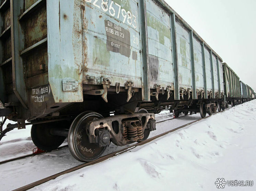
[[162, 110], [204, 118], [255, 98], [163, 0], [0, 2], [0, 116], [17, 122], [0, 139], [32, 124], [39, 149], [68, 137], [93, 161], [146, 140]]

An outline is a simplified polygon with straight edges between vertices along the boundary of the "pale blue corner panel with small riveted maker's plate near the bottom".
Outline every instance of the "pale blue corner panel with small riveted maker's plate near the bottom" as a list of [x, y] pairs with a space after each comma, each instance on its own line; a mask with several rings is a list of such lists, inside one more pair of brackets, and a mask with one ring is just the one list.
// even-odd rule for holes
[[82, 102], [81, 1], [47, 0], [46, 6], [48, 78], [54, 101]]

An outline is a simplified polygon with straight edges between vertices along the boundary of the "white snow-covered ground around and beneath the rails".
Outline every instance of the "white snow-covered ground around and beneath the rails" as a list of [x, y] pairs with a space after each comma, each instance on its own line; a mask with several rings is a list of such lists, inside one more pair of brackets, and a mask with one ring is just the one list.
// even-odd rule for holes
[[[158, 120], [164, 118], [172, 115], [157, 115]], [[200, 114], [196, 114], [158, 123], [158, 131], [151, 136], [199, 118]], [[8, 136], [0, 143], [0, 161], [34, 148], [29, 129], [9, 132]], [[256, 100], [32, 190], [219, 190], [215, 185], [217, 178], [256, 183], [255, 137]], [[121, 147], [111, 145], [107, 153], [118, 149]], [[1, 190], [24, 186], [78, 164], [81, 163], [72, 158], [68, 148], [2, 164]], [[256, 186], [227, 184], [224, 190], [256, 190]]]

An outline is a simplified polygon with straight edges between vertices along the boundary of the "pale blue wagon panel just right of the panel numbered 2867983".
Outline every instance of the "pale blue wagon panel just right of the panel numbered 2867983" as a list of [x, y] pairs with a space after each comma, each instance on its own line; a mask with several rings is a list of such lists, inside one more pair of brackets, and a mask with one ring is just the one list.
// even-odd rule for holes
[[149, 86], [172, 86], [173, 64], [170, 16], [152, 0], [146, 1], [149, 51]]

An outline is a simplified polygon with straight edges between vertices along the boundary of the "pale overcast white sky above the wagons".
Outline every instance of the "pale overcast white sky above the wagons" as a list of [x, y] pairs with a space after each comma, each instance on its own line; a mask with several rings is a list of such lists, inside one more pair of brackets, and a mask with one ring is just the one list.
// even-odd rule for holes
[[165, 0], [256, 91], [256, 0]]

